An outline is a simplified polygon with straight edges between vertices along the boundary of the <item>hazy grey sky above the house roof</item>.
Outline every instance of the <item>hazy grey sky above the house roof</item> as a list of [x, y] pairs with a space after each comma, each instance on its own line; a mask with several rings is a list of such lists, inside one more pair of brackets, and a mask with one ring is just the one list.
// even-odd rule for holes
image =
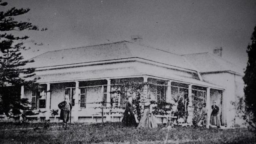
[[[26, 59], [47, 51], [130, 41], [176, 54], [212, 52], [246, 67], [246, 49], [256, 26], [256, 0], [8, 0], [8, 7], [30, 8], [17, 20], [46, 31], [29, 35]], [[35, 44], [36, 43], [36, 44]], [[41, 43], [43, 45], [41, 45]]]

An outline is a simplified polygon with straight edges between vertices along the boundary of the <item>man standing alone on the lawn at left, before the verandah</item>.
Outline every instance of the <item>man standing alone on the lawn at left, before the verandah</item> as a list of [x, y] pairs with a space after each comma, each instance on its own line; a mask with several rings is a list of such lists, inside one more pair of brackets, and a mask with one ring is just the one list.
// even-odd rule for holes
[[69, 122], [69, 113], [72, 109], [72, 105], [69, 102], [69, 98], [64, 97], [64, 101], [58, 104], [60, 112], [60, 120], [63, 120], [62, 128], [67, 129], [67, 122]]

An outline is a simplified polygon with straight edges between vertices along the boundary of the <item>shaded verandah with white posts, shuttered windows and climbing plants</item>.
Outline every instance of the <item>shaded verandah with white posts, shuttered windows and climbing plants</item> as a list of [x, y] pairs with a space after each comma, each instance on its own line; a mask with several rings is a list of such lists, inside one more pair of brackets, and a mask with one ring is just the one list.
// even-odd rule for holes
[[[129, 84], [132, 83], [136, 85], [147, 83], [147, 85], [134, 89], [134, 87], [129, 87]], [[41, 87], [37, 90], [21, 88], [21, 98], [31, 100], [31, 106], [34, 109], [46, 111], [35, 116], [28, 116], [30, 120], [50, 119], [51, 122], [58, 122], [59, 113], [53, 116], [51, 111], [59, 110], [58, 103], [64, 100], [64, 96], [68, 96], [73, 106], [71, 122], [101, 122], [102, 116], [104, 122], [121, 121], [126, 98], [135, 98], [136, 94], [140, 93], [142, 105], [148, 98], [156, 102], [164, 100], [173, 104], [172, 111], [177, 111], [178, 101], [181, 101], [186, 107], [186, 122], [188, 123], [192, 123], [193, 118], [198, 117], [194, 112], [200, 110], [202, 103], [206, 103], [209, 124], [211, 105], [215, 101], [220, 108], [221, 124], [226, 125], [223, 104], [224, 89], [204, 81], [177, 81], [150, 75], [139, 75], [59, 81], [39, 83], [39, 85]], [[159, 122], [166, 122], [166, 118], [160, 117]]]

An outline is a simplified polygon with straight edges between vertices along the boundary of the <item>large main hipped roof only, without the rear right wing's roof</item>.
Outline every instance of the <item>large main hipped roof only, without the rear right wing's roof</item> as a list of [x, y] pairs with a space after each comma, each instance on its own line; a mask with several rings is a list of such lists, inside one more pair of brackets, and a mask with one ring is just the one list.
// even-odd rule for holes
[[35, 62], [29, 63], [27, 66], [39, 68], [135, 57], [194, 70], [193, 66], [189, 65], [181, 55], [141, 46], [128, 41], [46, 52], [33, 57], [32, 59]]

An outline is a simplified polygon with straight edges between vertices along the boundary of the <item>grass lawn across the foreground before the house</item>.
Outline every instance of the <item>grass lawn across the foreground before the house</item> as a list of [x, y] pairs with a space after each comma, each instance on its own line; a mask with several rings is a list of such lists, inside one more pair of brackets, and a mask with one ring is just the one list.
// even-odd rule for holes
[[[51, 126], [60, 124], [51, 124]], [[43, 124], [16, 126], [0, 123], [0, 144], [86, 144], [86, 143], [186, 143], [186, 144], [255, 144], [255, 133], [247, 129], [204, 129], [200, 127], [176, 127], [167, 129], [137, 129], [123, 127], [121, 123], [72, 124], [67, 130], [61, 127], [48, 129], [19, 129], [22, 127], [43, 127]]]

